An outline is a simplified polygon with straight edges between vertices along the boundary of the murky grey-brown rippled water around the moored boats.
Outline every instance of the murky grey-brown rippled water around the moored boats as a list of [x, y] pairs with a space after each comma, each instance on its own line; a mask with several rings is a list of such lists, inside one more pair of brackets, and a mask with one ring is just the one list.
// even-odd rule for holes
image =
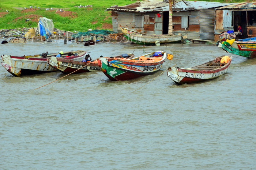
[[89, 72], [37, 90], [64, 74], [14, 77], [0, 67], [1, 169], [256, 167], [256, 59], [233, 55], [227, 74], [177, 86], [161, 74], [166, 68], [191, 67], [227, 53], [214, 44], [143, 48], [53, 42], [0, 48], [11, 55], [87, 50], [93, 59], [133, 51], [174, 55], [161, 71], [139, 79], [111, 82], [100, 71]]

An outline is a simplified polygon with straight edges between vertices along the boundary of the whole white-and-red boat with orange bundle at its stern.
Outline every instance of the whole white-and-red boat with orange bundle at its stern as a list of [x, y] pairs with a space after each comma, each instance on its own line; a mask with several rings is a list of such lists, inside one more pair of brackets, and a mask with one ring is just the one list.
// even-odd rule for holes
[[167, 76], [175, 83], [196, 83], [215, 79], [227, 72], [232, 56], [220, 56], [212, 61], [191, 68], [169, 67]]

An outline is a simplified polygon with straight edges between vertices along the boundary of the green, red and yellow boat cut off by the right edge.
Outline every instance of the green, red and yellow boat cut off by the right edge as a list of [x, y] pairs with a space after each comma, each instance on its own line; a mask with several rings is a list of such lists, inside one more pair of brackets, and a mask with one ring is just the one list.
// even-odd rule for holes
[[256, 58], [256, 37], [248, 39], [240, 39], [238, 41], [227, 40], [219, 43], [218, 47], [221, 47], [226, 52], [244, 56], [247, 58]]

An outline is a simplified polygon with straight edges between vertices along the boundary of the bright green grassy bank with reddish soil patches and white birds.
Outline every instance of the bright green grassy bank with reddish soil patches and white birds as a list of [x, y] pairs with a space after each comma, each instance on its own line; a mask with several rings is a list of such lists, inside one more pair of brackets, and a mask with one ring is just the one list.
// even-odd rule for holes
[[[137, 0], [76, 0], [76, 1], [34, 1], [1, 0], [0, 29], [37, 27], [37, 19], [52, 19], [55, 28], [66, 31], [87, 31], [87, 29], [112, 29], [111, 12], [105, 11], [112, 5], [127, 5]], [[81, 7], [79, 6], [88, 7]], [[30, 8], [33, 6], [33, 8]], [[36, 6], [36, 8], [34, 7]], [[25, 9], [28, 8], [28, 9]], [[38, 8], [40, 7], [40, 8]], [[49, 8], [49, 10], [46, 10]], [[61, 9], [61, 11], [59, 11]], [[9, 12], [6, 12], [8, 10]], [[26, 21], [30, 19], [29, 21]]]

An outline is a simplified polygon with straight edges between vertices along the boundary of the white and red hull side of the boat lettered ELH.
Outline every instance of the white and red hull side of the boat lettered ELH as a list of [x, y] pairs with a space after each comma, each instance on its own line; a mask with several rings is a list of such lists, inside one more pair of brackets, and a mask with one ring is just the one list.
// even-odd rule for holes
[[218, 78], [225, 74], [229, 68], [231, 60], [223, 67], [214, 70], [191, 70], [177, 67], [170, 67], [167, 71], [167, 76], [170, 77], [176, 84], [198, 83], [206, 80]]

